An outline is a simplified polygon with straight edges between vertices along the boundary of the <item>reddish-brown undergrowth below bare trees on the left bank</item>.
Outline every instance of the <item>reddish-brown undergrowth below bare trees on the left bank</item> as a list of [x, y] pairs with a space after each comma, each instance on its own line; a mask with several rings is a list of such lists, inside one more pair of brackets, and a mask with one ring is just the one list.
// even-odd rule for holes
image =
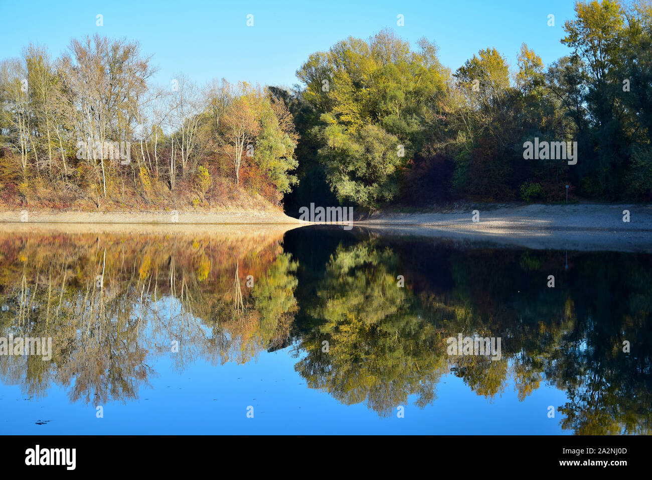
[[[235, 185], [224, 165], [209, 165], [207, 189], [196, 174], [179, 176], [174, 189], [164, 177], [123, 168], [108, 176], [107, 195], [88, 165], [70, 165], [67, 175], [49, 179], [47, 172], [23, 176], [18, 159], [4, 152], [0, 161], [0, 211], [50, 212], [222, 212], [224, 210], [282, 212], [281, 195], [261, 179], [253, 167]], [[205, 191], [204, 191], [205, 190]]]

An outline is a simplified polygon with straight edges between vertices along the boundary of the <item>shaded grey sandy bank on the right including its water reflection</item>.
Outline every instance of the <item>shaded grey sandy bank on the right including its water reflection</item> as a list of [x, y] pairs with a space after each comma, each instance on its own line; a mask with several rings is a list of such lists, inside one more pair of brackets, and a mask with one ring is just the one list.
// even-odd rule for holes
[[[357, 223], [374, 234], [449, 238], [463, 244], [580, 251], [652, 251], [652, 206], [526, 205], [472, 212], [378, 214]], [[623, 221], [629, 210], [629, 222]]]

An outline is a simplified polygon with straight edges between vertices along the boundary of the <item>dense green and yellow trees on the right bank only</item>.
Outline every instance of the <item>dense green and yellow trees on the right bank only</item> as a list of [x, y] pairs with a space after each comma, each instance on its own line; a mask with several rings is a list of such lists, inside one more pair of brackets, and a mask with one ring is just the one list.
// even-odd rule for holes
[[[414, 50], [391, 31], [310, 56], [291, 103], [302, 138], [291, 201], [307, 204], [323, 180], [370, 208], [554, 202], [565, 185], [571, 198], [652, 199], [652, 7], [604, 0], [575, 10], [561, 40], [569, 56], [547, 69], [523, 44], [516, 69], [485, 48], [451, 72], [434, 43]], [[576, 164], [524, 159], [536, 138], [577, 142]]]

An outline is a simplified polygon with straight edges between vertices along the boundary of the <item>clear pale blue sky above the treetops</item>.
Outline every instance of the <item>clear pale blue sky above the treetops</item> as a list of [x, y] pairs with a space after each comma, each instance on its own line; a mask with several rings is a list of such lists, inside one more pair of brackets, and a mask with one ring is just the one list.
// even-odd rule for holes
[[[412, 44], [422, 36], [435, 40], [441, 61], [453, 70], [488, 46], [514, 65], [522, 42], [548, 65], [569, 53], [559, 39], [573, 7], [573, 0], [0, 0], [0, 58], [19, 56], [29, 42], [48, 46], [55, 57], [70, 39], [98, 32], [138, 40], [160, 67], [161, 84], [182, 71], [200, 84], [224, 77], [292, 86], [312, 52], [393, 27]], [[102, 27], [97, 14], [104, 16]], [[248, 14], [253, 27], [246, 26]], [[396, 25], [398, 14], [403, 27]], [[555, 15], [554, 27], [547, 25], [548, 14]]]

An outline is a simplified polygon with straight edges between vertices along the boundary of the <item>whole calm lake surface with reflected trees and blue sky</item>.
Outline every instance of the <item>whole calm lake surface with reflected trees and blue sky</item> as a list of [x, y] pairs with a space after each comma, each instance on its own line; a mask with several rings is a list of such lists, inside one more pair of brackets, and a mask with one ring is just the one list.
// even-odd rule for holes
[[0, 233], [0, 433], [651, 432], [650, 253], [249, 230]]

